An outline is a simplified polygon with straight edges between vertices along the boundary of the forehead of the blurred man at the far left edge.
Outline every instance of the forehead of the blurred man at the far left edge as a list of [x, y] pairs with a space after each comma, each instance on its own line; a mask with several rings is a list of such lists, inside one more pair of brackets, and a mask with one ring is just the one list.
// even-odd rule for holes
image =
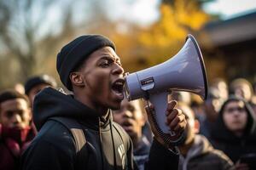
[[13, 108], [26, 109], [28, 107], [25, 99], [9, 99], [0, 104], [1, 110], [9, 110]]

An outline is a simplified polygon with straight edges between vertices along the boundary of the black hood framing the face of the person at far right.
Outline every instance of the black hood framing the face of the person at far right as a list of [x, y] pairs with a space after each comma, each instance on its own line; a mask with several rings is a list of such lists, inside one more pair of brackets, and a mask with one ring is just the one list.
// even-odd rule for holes
[[[247, 126], [244, 130], [244, 135], [241, 138], [256, 139], [256, 118], [252, 107], [244, 100], [236, 96], [230, 96], [224, 104], [222, 105], [219, 113], [218, 119], [215, 126], [212, 129], [212, 139], [220, 139], [223, 141], [236, 142], [238, 139], [231, 131], [224, 125], [223, 114], [225, 105], [229, 104], [231, 101], [242, 101], [245, 105], [247, 112]], [[238, 139], [240, 140], [240, 139]]]

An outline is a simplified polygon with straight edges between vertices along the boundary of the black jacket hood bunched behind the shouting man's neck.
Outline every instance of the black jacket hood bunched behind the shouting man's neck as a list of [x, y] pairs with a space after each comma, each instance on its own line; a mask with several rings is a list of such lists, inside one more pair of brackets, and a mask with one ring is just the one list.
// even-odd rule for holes
[[100, 113], [74, 99], [73, 95], [64, 94], [54, 88], [44, 88], [34, 99], [33, 121], [39, 130], [44, 122], [55, 116], [90, 122], [94, 126], [106, 124], [111, 118], [109, 111], [107, 119], [103, 119]]

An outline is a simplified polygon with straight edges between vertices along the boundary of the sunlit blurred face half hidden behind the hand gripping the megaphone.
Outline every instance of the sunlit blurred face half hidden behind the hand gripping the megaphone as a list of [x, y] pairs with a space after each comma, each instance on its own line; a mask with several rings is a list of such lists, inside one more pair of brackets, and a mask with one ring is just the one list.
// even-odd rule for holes
[[200, 124], [195, 120], [195, 113], [188, 105], [177, 105], [177, 108], [183, 111], [188, 122], [185, 129], [186, 138], [183, 145], [191, 144], [195, 139], [195, 134], [199, 133]]

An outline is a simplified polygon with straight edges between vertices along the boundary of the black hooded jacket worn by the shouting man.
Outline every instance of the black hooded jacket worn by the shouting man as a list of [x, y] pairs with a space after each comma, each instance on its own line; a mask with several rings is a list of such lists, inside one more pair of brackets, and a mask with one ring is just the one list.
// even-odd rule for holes
[[[73, 96], [53, 88], [45, 88], [34, 101], [34, 122], [39, 132], [22, 156], [21, 169], [79, 169], [73, 136], [61, 123], [50, 120], [55, 116], [75, 119], [83, 127], [84, 169], [134, 169], [131, 139], [112, 121], [111, 111], [103, 118]], [[159, 145], [156, 143], [152, 152], [167, 151]], [[175, 160], [167, 166], [176, 166], [177, 156], [167, 155]], [[152, 162], [148, 163], [154, 165]]]

